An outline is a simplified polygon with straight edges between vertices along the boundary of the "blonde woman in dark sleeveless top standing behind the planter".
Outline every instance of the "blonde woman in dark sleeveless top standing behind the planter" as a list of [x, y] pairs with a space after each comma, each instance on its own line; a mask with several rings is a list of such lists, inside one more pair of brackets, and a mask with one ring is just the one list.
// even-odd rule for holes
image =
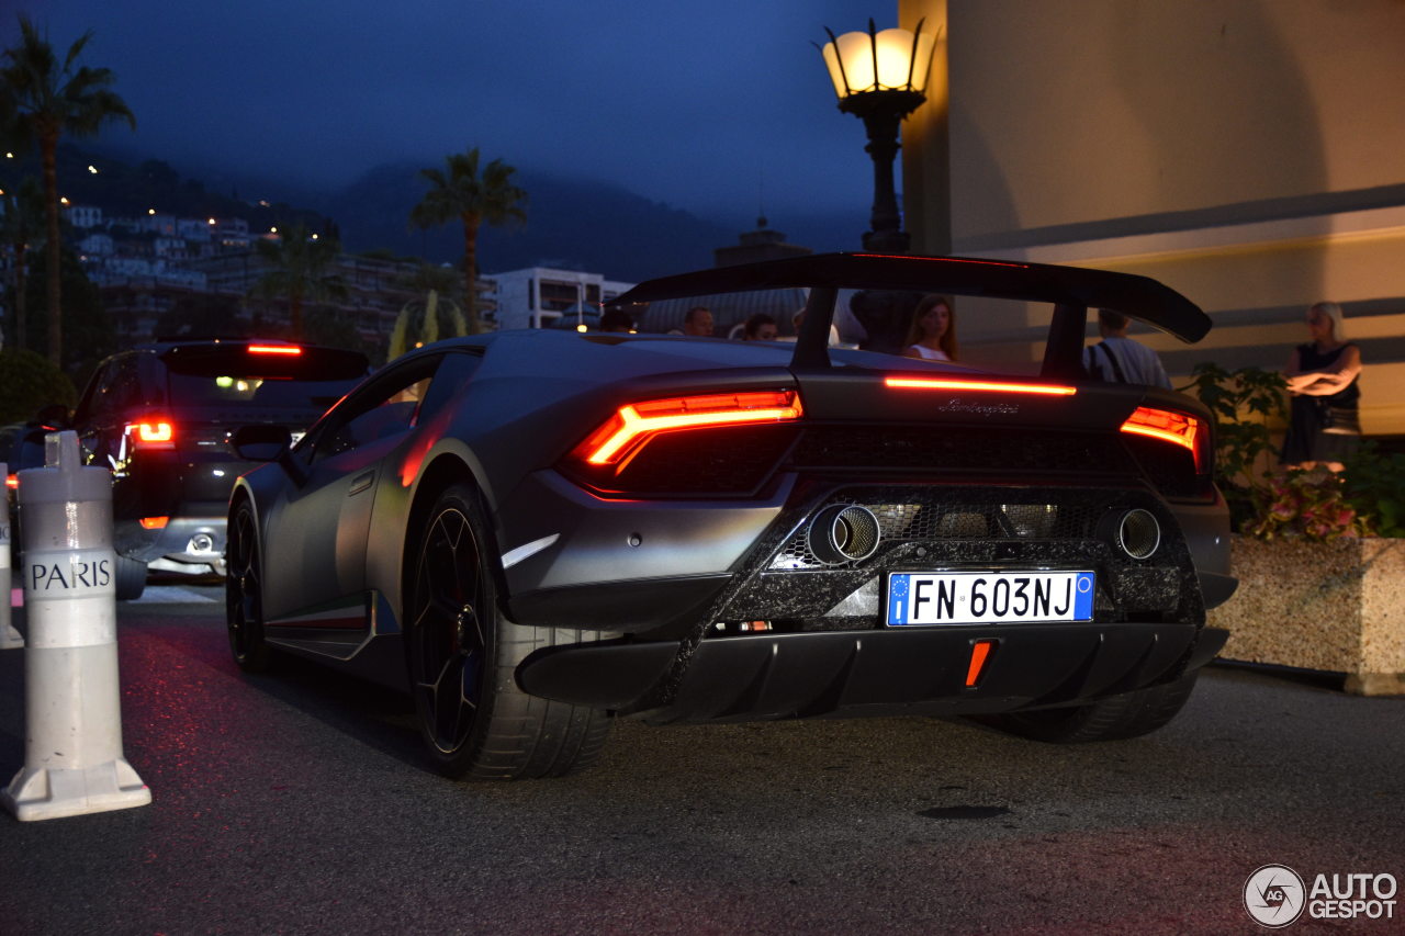
[[1359, 403], [1361, 351], [1346, 340], [1342, 306], [1308, 309], [1308, 334], [1288, 358], [1288, 436], [1280, 455], [1287, 468], [1342, 471], [1361, 437]]

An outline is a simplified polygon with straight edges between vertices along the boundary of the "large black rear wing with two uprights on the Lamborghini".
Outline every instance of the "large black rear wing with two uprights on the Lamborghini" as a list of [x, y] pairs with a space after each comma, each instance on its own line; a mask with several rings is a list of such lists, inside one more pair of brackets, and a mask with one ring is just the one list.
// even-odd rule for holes
[[902, 290], [1052, 302], [1054, 320], [1041, 370], [1045, 377], [1080, 372], [1087, 309], [1116, 309], [1187, 344], [1210, 332], [1210, 316], [1200, 306], [1148, 277], [975, 257], [822, 253], [660, 277], [641, 282], [617, 301], [653, 302], [787, 288], [811, 291], [792, 367], [829, 367], [829, 326], [835, 320], [839, 290]]

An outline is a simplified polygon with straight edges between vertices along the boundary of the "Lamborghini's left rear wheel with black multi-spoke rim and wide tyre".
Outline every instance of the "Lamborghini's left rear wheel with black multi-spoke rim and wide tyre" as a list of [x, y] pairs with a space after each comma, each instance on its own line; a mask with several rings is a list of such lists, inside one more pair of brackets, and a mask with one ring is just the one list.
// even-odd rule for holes
[[517, 665], [532, 651], [592, 632], [528, 627], [502, 611], [497, 568], [478, 495], [454, 485], [436, 500], [413, 557], [406, 665], [420, 734], [450, 777], [556, 777], [596, 760], [606, 711], [528, 696]]

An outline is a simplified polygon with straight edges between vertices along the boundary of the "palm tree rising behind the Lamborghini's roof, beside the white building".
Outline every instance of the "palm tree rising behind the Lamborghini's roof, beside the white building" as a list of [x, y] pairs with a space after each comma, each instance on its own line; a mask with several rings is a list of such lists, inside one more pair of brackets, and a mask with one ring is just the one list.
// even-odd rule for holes
[[468, 329], [481, 330], [478, 319], [478, 228], [510, 221], [525, 221], [527, 193], [513, 184], [517, 171], [500, 159], [483, 166], [479, 174], [478, 148], [444, 159], [448, 171], [422, 169], [430, 190], [410, 209], [410, 226], [436, 228], [451, 221], [464, 225], [464, 297], [468, 304]]

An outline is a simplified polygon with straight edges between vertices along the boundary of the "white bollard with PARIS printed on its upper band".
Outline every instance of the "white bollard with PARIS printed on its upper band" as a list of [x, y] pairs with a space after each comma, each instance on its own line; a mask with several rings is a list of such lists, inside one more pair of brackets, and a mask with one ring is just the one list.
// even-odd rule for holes
[[0, 794], [24, 821], [152, 801], [122, 758], [112, 481], [83, 467], [73, 431], [45, 438], [44, 462], [20, 472], [27, 731], [24, 767]]

